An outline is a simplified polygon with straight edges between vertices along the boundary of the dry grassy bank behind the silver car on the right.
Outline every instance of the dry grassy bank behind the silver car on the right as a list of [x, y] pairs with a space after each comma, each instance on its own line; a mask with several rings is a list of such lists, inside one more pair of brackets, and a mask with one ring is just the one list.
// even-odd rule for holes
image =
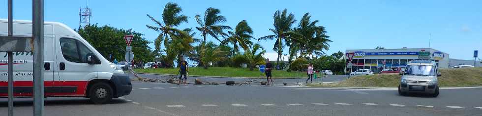
[[[482, 68], [441, 69], [439, 87], [482, 86]], [[381, 74], [355, 76], [340, 83], [309, 84], [312, 87], [398, 87], [401, 75]]]

